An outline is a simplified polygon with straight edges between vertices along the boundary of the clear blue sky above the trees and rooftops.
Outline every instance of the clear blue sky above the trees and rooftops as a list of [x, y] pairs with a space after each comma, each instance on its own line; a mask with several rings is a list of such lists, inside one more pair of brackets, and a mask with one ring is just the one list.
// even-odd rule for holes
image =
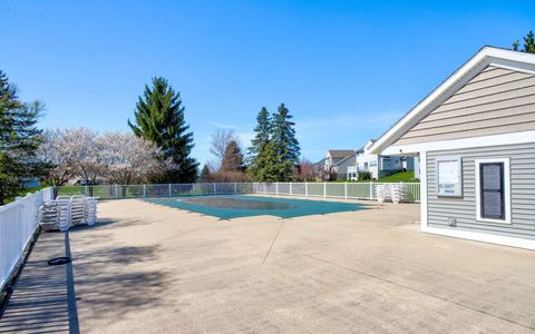
[[[449, 2], [449, 3], [448, 3]], [[358, 148], [485, 45], [535, 30], [535, 1], [6, 1], [0, 69], [41, 126], [128, 130], [153, 76], [182, 95], [194, 156], [285, 102], [304, 156]]]

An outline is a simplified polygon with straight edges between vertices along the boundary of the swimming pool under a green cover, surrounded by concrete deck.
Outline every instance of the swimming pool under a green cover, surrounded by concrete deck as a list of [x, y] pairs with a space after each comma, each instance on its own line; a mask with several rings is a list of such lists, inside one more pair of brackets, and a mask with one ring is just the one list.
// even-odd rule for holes
[[358, 203], [244, 195], [166, 197], [146, 198], [143, 200], [222, 219], [263, 215], [292, 218], [308, 215], [356, 212], [368, 208], [367, 205]]

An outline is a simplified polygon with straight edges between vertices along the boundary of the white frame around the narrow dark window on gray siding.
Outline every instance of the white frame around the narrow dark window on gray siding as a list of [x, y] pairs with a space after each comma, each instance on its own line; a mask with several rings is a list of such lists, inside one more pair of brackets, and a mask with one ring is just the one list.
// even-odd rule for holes
[[[486, 163], [503, 163], [504, 164], [504, 191], [505, 191], [505, 219], [490, 219], [481, 217], [481, 193], [479, 180], [479, 165]], [[497, 224], [510, 224], [510, 164], [509, 158], [488, 158], [476, 159], [474, 168], [476, 169], [476, 220], [481, 223], [497, 223]]]

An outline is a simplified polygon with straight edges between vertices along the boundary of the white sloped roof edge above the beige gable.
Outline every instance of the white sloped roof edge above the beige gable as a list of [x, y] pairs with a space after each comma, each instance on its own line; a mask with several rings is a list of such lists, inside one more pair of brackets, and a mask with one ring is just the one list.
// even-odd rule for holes
[[495, 47], [481, 48], [377, 139], [370, 150], [374, 154], [383, 151], [489, 65], [534, 73], [535, 55]]

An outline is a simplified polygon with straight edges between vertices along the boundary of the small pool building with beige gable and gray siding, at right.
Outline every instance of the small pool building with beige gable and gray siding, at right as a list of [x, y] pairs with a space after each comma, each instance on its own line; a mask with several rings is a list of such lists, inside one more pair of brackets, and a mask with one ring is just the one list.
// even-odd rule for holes
[[535, 249], [535, 55], [483, 48], [371, 151], [419, 156], [422, 232]]

